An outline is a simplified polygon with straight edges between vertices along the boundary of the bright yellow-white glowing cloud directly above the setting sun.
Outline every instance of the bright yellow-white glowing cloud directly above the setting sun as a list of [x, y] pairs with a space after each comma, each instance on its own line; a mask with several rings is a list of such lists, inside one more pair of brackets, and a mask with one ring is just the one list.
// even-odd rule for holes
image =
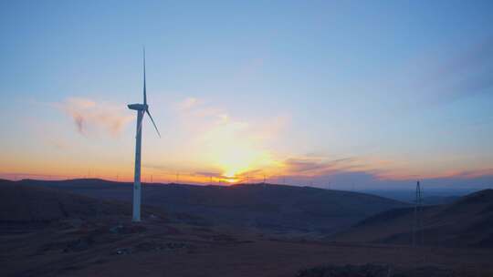
[[181, 151], [189, 163], [203, 163], [209, 169], [194, 171], [219, 171], [221, 174], [239, 176], [258, 168], [275, 167], [277, 160], [269, 146], [278, 139], [288, 117], [244, 118], [227, 108], [203, 98], [186, 97], [174, 104], [174, 111], [184, 138]]

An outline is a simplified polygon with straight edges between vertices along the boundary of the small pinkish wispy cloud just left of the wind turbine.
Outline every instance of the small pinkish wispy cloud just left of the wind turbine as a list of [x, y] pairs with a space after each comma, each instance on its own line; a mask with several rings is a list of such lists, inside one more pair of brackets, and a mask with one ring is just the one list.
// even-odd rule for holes
[[131, 114], [125, 112], [123, 105], [98, 103], [82, 97], [69, 97], [56, 106], [73, 119], [77, 131], [83, 136], [103, 131], [112, 137], [117, 137], [133, 118]]

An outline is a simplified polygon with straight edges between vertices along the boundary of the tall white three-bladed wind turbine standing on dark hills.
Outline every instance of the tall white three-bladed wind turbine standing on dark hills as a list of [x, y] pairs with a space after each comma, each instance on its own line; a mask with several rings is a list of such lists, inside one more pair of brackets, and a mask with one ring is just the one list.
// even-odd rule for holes
[[147, 95], [145, 92], [145, 48], [143, 49], [143, 104], [130, 104], [128, 107], [137, 111], [137, 135], [135, 136], [135, 175], [133, 178], [133, 209], [131, 221], [141, 221], [141, 146], [142, 146], [142, 119], [145, 113], [151, 118], [152, 125], [156, 128], [158, 136], [161, 138], [154, 119], [152, 119], [149, 112], [149, 106], [147, 105]]

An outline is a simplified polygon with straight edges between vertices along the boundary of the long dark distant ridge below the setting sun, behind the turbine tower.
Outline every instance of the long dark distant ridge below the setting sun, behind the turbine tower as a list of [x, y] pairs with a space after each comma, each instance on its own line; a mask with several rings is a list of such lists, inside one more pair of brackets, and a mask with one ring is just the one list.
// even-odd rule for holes
[[[43, 186], [104, 199], [131, 201], [131, 184], [105, 180], [37, 181]], [[406, 204], [369, 194], [272, 184], [144, 185], [142, 203], [193, 214], [210, 224], [276, 232], [330, 233], [383, 210]]]

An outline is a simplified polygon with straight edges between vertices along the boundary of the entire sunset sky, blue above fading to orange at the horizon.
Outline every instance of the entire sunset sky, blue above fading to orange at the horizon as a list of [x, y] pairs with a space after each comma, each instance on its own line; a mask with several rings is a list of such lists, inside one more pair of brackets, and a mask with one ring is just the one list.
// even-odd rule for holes
[[2, 1], [0, 178], [493, 185], [493, 1]]

